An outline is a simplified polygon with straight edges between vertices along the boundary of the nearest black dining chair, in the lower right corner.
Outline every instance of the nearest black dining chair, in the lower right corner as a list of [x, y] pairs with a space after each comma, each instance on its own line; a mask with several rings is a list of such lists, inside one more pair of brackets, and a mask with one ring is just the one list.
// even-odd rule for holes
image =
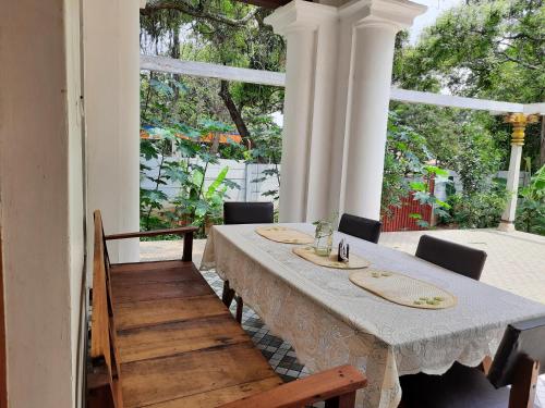
[[510, 324], [487, 373], [455, 363], [443, 375], [402, 375], [400, 407], [533, 407], [537, 375], [545, 373], [544, 339], [545, 318]]

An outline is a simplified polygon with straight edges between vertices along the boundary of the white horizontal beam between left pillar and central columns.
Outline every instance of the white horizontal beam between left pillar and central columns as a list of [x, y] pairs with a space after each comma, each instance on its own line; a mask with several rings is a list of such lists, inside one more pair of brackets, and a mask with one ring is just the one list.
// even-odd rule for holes
[[280, 87], [286, 84], [286, 74], [280, 72], [249, 70], [207, 62], [181, 61], [166, 57], [141, 55], [141, 70]]

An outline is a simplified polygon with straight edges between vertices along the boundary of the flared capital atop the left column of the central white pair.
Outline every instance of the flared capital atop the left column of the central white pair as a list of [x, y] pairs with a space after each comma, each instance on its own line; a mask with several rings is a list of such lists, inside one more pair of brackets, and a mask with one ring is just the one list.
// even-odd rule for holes
[[287, 35], [295, 30], [315, 30], [324, 22], [338, 20], [338, 10], [331, 5], [292, 0], [265, 17], [276, 34]]

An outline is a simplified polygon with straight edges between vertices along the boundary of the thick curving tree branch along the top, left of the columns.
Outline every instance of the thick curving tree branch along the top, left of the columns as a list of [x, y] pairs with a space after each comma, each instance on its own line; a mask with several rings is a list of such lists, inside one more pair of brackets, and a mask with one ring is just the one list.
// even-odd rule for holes
[[259, 9], [253, 8], [242, 18], [230, 18], [222, 14], [214, 14], [205, 10], [199, 10], [191, 5], [185, 0], [150, 0], [148, 1], [146, 8], [142, 9], [140, 12], [143, 15], [150, 15], [159, 10], [177, 10], [182, 13], [192, 15], [196, 18], [206, 18], [214, 21], [216, 23], [226, 24], [233, 27], [240, 27], [245, 25], [250, 20], [252, 20]]

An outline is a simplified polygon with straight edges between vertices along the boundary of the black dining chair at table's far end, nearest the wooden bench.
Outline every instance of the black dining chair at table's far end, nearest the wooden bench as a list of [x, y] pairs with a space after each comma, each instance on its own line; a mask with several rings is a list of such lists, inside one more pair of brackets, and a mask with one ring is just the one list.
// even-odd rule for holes
[[[275, 207], [272, 202], [223, 202], [223, 223], [229, 224], [270, 224], [275, 222]], [[235, 319], [242, 323], [242, 309], [244, 301], [229, 286], [229, 281], [223, 282], [223, 294], [221, 299], [227, 307], [237, 302]]]

